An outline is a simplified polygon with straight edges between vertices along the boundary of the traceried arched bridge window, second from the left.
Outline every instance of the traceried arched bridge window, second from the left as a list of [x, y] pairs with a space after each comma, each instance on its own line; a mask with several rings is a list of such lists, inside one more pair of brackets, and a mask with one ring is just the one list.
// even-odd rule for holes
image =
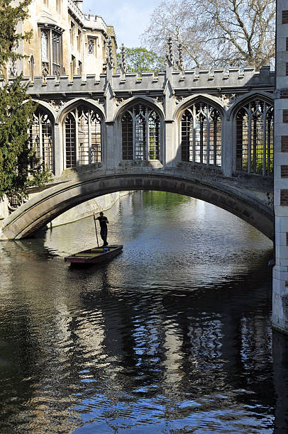
[[66, 168], [101, 162], [101, 117], [78, 106], [65, 117]]

